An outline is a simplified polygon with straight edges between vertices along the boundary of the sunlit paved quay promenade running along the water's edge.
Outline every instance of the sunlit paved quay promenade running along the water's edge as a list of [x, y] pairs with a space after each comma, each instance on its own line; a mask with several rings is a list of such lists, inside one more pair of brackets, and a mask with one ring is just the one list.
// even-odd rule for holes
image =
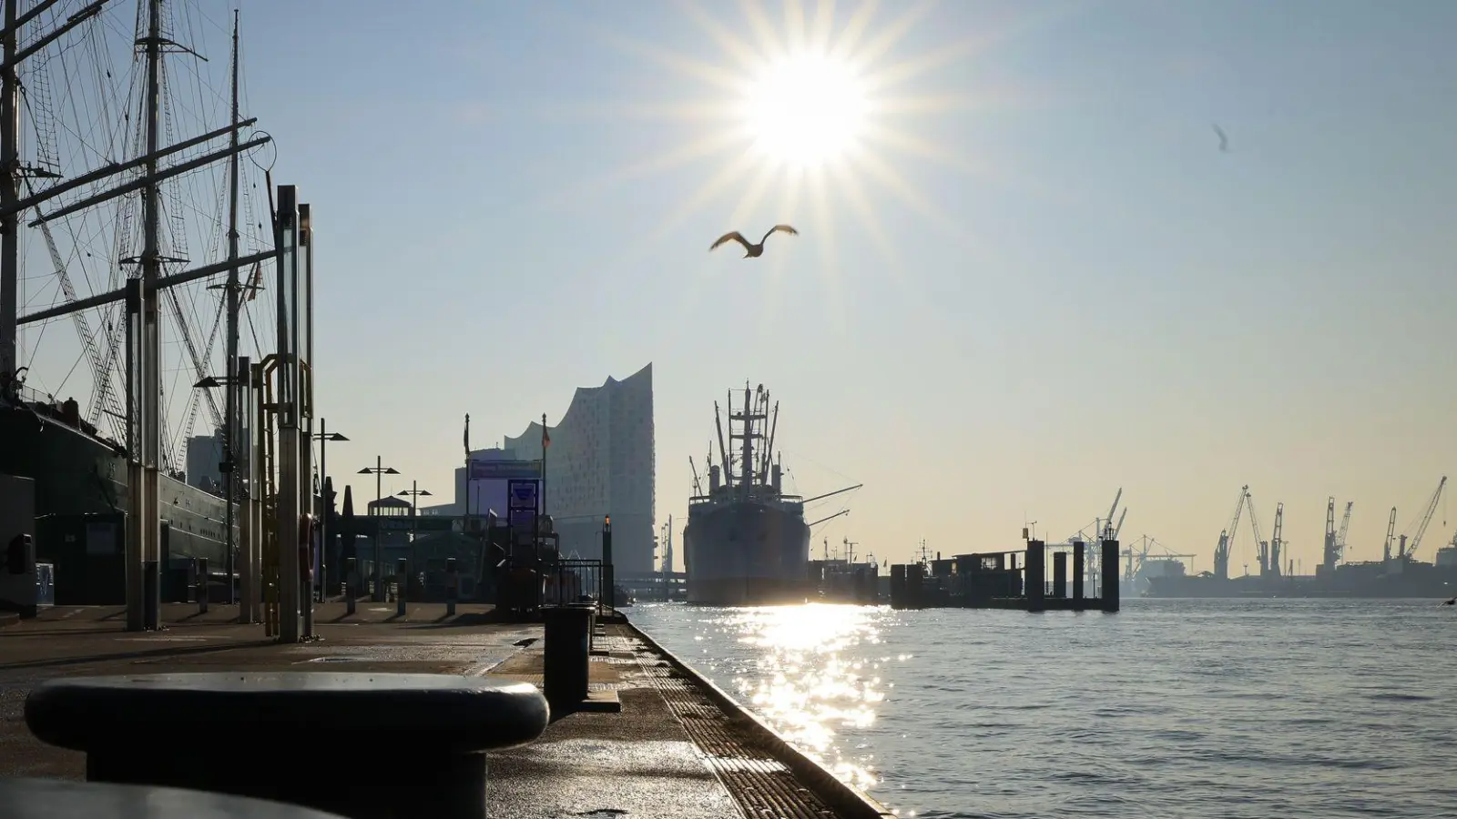
[[[31, 686], [54, 676], [191, 670], [329, 670], [471, 673], [541, 683], [542, 627], [492, 624], [488, 606], [361, 600], [316, 608], [321, 640], [280, 646], [261, 625], [239, 625], [232, 606], [165, 605], [160, 632], [122, 631], [119, 608], [54, 608], [0, 628], [0, 777], [83, 780], [85, 756], [34, 739], [23, 704]], [[804, 775], [782, 743], [763, 736], [721, 694], [705, 688], [631, 625], [606, 625], [590, 663], [593, 698], [616, 697], [621, 713], [554, 718], [535, 743], [490, 758], [492, 816], [546, 819], [879, 816], [879, 806], [833, 783]], [[717, 697], [715, 697], [717, 694]], [[389, 755], [408, 748], [338, 748], [328, 736], [299, 742], [319, 753], [356, 753], [360, 775], [389, 775]], [[223, 742], [214, 737], [213, 742]], [[181, 734], [178, 742], [197, 742]], [[785, 762], [790, 765], [785, 765]], [[793, 771], [800, 771], [796, 775]], [[321, 783], [321, 787], [331, 784]], [[332, 787], [339, 787], [332, 784]], [[347, 787], [347, 785], [344, 785]]]

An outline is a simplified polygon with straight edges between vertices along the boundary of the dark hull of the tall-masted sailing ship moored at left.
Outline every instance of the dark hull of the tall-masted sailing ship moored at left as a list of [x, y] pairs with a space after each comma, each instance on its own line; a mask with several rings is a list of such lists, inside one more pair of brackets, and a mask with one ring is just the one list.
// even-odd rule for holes
[[[0, 472], [35, 481], [36, 557], [55, 564], [57, 603], [124, 602], [121, 541], [114, 546], [117, 555], [77, 552], [71, 542], [76, 526], [85, 529], [83, 519], [102, 522], [124, 516], [131, 494], [127, 459], [106, 442], [60, 420], [12, 405], [0, 407]], [[223, 571], [226, 501], [169, 475], [160, 477], [159, 488], [165, 570], [185, 574], [192, 558], [207, 558], [210, 573]], [[98, 577], [99, 573], [106, 577]], [[90, 577], [85, 592], [79, 592], [83, 599], [68, 593], [79, 574]], [[166, 597], [166, 587], [175, 583], [165, 577], [163, 586]]]

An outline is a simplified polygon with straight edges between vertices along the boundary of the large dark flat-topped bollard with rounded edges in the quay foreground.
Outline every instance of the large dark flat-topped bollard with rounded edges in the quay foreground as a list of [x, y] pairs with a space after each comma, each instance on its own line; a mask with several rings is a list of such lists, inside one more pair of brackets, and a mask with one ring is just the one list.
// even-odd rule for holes
[[216, 672], [51, 679], [25, 701], [86, 778], [272, 799], [350, 819], [485, 819], [485, 752], [541, 736], [530, 683]]

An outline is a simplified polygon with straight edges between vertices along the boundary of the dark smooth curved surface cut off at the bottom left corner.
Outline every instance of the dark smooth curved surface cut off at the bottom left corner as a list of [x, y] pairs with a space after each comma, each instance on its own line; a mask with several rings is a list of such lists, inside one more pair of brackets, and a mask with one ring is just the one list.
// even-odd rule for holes
[[264, 802], [220, 793], [63, 783], [58, 780], [0, 778], [0, 806], [7, 819], [339, 819], [297, 804]]

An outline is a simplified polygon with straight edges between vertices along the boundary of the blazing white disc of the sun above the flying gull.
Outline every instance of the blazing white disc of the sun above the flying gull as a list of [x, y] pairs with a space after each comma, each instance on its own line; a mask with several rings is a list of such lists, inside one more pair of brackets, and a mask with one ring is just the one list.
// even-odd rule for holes
[[858, 143], [870, 105], [849, 63], [798, 54], [759, 71], [745, 92], [743, 108], [758, 152], [775, 162], [814, 168]]

